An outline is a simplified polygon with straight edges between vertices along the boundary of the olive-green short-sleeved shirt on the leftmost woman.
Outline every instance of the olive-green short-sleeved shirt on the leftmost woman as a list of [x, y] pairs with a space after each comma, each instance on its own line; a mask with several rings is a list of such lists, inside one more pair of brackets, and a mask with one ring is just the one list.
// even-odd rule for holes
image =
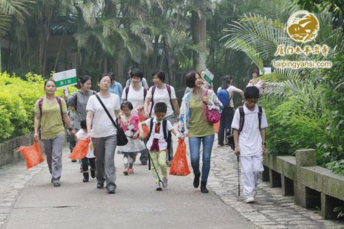
[[[67, 113], [67, 106], [65, 100], [61, 98], [62, 103], [62, 112]], [[57, 135], [65, 134], [65, 127], [63, 127], [61, 109], [58, 105], [57, 100], [54, 101], [54, 104], [49, 105], [47, 99], [43, 99], [42, 104], [42, 113], [39, 111], [39, 100], [37, 100], [34, 105], [34, 113], [41, 115], [41, 139], [48, 140], [54, 139]]]

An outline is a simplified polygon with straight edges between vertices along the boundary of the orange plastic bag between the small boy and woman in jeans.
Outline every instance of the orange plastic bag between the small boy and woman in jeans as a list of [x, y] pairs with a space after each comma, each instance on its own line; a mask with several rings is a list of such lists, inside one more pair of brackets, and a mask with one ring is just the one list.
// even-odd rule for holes
[[178, 147], [171, 162], [170, 175], [186, 176], [190, 173], [186, 160], [186, 144], [184, 139], [178, 140]]

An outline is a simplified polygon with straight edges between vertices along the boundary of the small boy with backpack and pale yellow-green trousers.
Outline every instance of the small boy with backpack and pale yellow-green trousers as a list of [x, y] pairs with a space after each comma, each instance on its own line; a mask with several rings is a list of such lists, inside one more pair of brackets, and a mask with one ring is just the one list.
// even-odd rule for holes
[[[177, 130], [169, 120], [165, 119], [167, 106], [164, 102], [157, 102], [154, 107], [154, 118], [149, 118], [144, 122], [138, 124], [140, 130], [140, 139], [143, 139], [142, 126], [150, 127], [148, 134], [147, 149], [149, 157], [153, 164], [153, 177], [156, 185], [156, 190], [160, 191], [167, 187], [167, 165], [166, 165], [166, 149], [169, 149], [171, 144], [171, 132], [177, 135]], [[160, 167], [162, 180], [158, 175], [158, 167]], [[161, 183], [161, 185], [160, 185]]]

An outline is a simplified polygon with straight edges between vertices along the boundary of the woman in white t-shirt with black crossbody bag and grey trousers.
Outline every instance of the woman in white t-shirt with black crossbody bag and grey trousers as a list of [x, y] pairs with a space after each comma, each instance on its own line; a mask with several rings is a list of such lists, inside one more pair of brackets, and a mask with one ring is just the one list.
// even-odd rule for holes
[[[109, 93], [111, 84], [112, 78], [109, 74], [100, 76], [98, 79], [100, 91], [96, 95], [102, 100], [110, 115], [116, 119], [120, 114], [120, 98], [116, 94]], [[114, 155], [117, 145], [117, 130], [96, 95], [90, 96], [87, 102], [86, 123], [87, 138], [90, 140], [92, 138], [94, 155], [96, 155], [97, 188], [103, 188], [106, 181], [107, 193], [116, 193]]]

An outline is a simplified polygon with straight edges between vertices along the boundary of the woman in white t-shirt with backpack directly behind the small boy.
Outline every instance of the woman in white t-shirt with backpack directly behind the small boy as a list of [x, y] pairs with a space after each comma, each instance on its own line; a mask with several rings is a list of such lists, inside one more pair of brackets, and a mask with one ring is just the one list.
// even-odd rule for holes
[[[177, 117], [179, 117], [179, 105], [177, 96], [175, 96], [175, 89], [171, 85], [164, 83], [165, 73], [158, 70], [152, 74], [154, 86], [150, 87], [144, 100], [144, 113], [147, 117], [151, 116], [154, 118], [154, 105], [157, 102], [164, 102], [167, 105], [166, 120], [169, 120], [173, 125], [175, 120], [174, 112]], [[151, 109], [149, 110], [149, 103], [151, 104]], [[174, 112], [173, 112], [174, 111]], [[173, 158], [173, 146], [171, 141], [171, 146], [169, 149], [169, 156], [166, 155], [166, 162], [171, 165], [171, 160]], [[170, 160], [168, 160], [170, 159]]]

